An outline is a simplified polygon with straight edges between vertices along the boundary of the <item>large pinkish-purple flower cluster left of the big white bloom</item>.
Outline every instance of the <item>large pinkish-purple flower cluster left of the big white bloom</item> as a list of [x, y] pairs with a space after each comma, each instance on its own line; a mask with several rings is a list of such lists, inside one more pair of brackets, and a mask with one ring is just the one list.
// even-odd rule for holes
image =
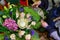
[[16, 24], [15, 20], [12, 20], [11, 18], [5, 19], [3, 26], [6, 26], [9, 30], [16, 31], [18, 29], [18, 25]]

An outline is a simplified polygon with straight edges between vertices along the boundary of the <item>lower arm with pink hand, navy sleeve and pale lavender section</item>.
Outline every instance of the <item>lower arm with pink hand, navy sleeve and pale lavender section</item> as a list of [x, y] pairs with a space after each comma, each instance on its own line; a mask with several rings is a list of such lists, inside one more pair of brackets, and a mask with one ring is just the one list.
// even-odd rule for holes
[[53, 37], [55, 40], [60, 40], [56, 29], [49, 26], [45, 21], [41, 20], [42, 26], [49, 32], [50, 37]]

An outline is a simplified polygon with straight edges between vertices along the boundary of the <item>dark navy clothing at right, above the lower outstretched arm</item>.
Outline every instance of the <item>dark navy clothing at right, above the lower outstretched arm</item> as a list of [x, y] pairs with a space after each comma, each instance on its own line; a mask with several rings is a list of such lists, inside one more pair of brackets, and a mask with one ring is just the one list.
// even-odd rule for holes
[[48, 13], [48, 15], [47, 15], [47, 23], [51, 26], [51, 27], [55, 27], [55, 23], [56, 22], [54, 22], [53, 20], [55, 19], [55, 18], [57, 18], [57, 17], [59, 17], [60, 16], [60, 7], [53, 7], [50, 11], [49, 11], [49, 13]]

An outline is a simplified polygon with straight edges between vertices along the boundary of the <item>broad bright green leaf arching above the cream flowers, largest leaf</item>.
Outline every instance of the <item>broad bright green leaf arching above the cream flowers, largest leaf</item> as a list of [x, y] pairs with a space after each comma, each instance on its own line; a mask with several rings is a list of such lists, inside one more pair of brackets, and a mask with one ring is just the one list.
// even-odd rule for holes
[[24, 7], [24, 11], [27, 12], [27, 13], [30, 13], [31, 16], [33, 16], [33, 19], [34, 20], [36, 20], [36, 21], [39, 21], [40, 20], [40, 16], [32, 8], [30, 8], [30, 7]]

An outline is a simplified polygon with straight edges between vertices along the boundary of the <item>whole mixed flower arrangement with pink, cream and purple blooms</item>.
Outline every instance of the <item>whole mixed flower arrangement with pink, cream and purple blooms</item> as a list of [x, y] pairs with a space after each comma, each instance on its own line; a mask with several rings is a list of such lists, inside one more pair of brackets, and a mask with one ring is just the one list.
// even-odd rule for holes
[[8, 3], [8, 8], [0, 11], [1, 40], [39, 40], [34, 30], [40, 27], [40, 15], [31, 7], [21, 7]]

